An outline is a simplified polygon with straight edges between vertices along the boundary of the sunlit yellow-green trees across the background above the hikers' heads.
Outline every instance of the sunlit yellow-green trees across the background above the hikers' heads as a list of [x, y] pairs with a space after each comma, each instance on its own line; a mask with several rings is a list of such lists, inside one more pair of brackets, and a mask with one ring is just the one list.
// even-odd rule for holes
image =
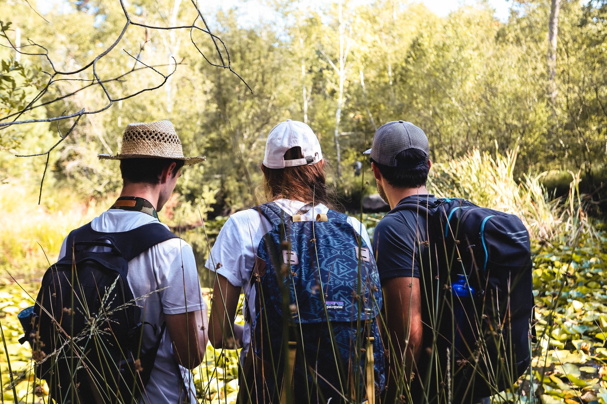
[[[50, 24], [41, 22], [29, 7], [4, 3], [5, 18], [12, 25], [10, 29], [5, 25], [6, 37], [0, 40], [14, 42], [15, 29], [21, 27], [22, 38], [35, 39], [48, 48], [50, 57], [60, 61], [58, 68], [90, 61], [98, 49], [115, 40], [124, 22], [117, 2], [65, 4], [61, 12], [53, 10], [44, 16]], [[129, 10], [149, 24], [166, 25], [161, 16], [170, 15], [173, 5], [168, 0], [142, 2], [137, 8], [129, 5]], [[212, 29], [228, 45], [234, 68], [253, 94], [229, 71], [208, 65], [189, 44], [187, 30], [146, 33], [134, 27], [127, 31], [120, 49], [98, 65], [110, 93], [127, 94], [158, 84], [158, 75], [145, 69], [115, 79], [132, 67], [143, 67], [127, 51], [136, 55], [143, 47], [141, 60], [160, 65], [158, 69], [164, 72], [172, 70], [167, 65], [172, 63], [169, 55], [183, 64], [154, 93], [117, 102], [104, 113], [83, 118], [63, 148], [53, 154], [53, 176], [93, 196], [116, 190], [120, 187], [117, 165], [98, 162], [96, 154], [120, 150], [121, 133], [128, 122], [154, 119], [174, 122], [187, 154], [207, 155], [204, 170], [180, 193], [193, 201], [206, 192], [203, 186], [215, 191], [215, 214], [258, 202], [265, 136], [283, 119], [307, 119], [325, 157], [336, 167], [333, 133], [339, 79], [330, 61], [339, 54], [337, 7], [316, 10], [286, 3], [276, 7], [277, 15], [284, 16], [283, 28], [265, 21], [243, 27], [238, 10], [211, 18]], [[175, 24], [191, 23], [191, 11], [186, 2], [180, 3]], [[568, 167], [582, 169], [591, 187], [599, 185], [595, 173], [604, 170], [606, 163], [605, 5], [563, 1], [554, 105], [546, 96], [549, 7], [539, 1], [517, 2], [506, 22], [497, 21], [492, 13], [478, 5], [439, 18], [423, 5], [392, 1], [345, 5], [344, 43], [349, 48], [339, 128], [344, 174], [334, 178], [340, 193], [348, 198], [362, 195], [351, 164], [361, 159], [358, 153], [370, 145], [375, 128], [393, 119], [407, 119], [426, 130], [435, 162], [463, 156], [473, 147], [480, 153], [492, 151], [496, 142], [500, 150], [514, 150], [518, 144], [515, 176]], [[207, 36], [195, 32], [192, 38], [212, 62], [218, 61]], [[10, 79], [0, 81], [5, 88], [0, 90], [5, 93], [3, 99], [10, 98], [15, 105], [32, 99], [31, 90], [39, 88], [41, 79], [36, 72], [44, 70], [46, 60], [21, 55], [16, 65], [10, 48], [2, 48], [0, 58], [5, 61], [2, 77], [7, 74], [4, 70], [13, 69]], [[104, 100], [98, 89], [80, 91], [90, 77], [87, 69], [78, 77], [84, 81], [53, 84], [39, 102], [76, 93], [37, 108], [36, 114], [101, 107]], [[59, 130], [64, 132], [69, 124], [64, 122]], [[32, 133], [31, 128], [11, 127], [0, 133], [15, 151], [46, 150], [59, 133], [55, 125], [37, 127], [46, 136], [33, 136], [20, 146], [10, 139], [22, 139]], [[52, 133], [55, 139], [49, 138]], [[8, 157], [3, 156], [0, 164], [12, 170], [19, 163]]]

